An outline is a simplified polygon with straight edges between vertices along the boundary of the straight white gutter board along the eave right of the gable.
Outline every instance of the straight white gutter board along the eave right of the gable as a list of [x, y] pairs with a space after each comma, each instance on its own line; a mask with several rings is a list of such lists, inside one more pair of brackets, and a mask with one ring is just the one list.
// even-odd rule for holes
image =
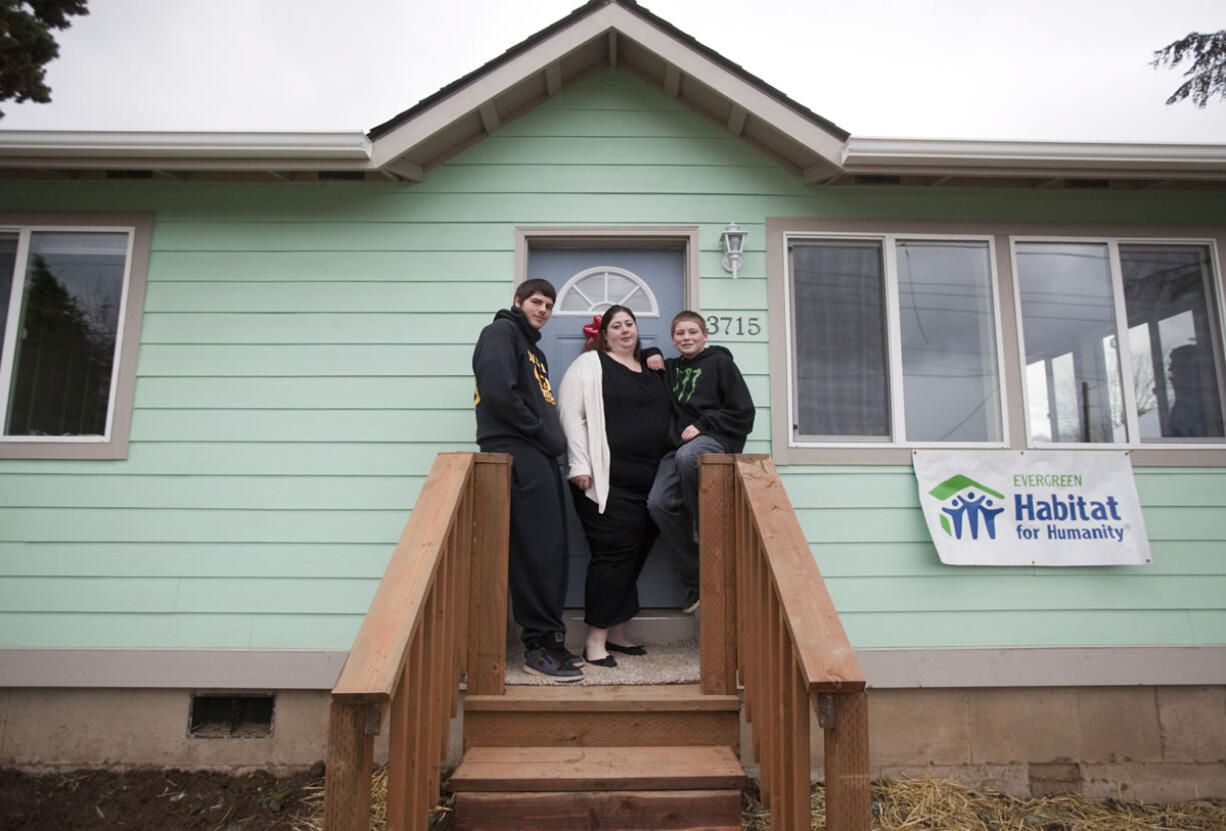
[[1068, 175], [1226, 175], [1226, 145], [859, 138], [847, 141], [848, 173], [1019, 173]]

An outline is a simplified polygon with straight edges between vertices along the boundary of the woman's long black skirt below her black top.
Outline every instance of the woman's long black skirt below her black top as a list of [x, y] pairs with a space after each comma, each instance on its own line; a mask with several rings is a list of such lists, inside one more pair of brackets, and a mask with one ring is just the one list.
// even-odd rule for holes
[[611, 485], [603, 514], [574, 485], [571, 496], [592, 555], [584, 583], [584, 621], [608, 629], [639, 614], [639, 572], [656, 541], [656, 523], [647, 515], [646, 493]]

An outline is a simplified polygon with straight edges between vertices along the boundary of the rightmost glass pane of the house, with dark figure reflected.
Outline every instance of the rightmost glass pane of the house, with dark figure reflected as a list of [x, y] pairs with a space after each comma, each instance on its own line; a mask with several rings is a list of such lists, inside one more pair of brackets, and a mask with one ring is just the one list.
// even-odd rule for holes
[[1209, 250], [1121, 245], [1141, 439], [1222, 438]]

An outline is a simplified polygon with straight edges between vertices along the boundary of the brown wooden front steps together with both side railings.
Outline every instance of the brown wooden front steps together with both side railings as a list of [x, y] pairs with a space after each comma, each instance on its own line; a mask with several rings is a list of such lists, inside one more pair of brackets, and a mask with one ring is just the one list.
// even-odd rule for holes
[[779, 474], [767, 457], [701, 468], [700, 681], [516, 686], [510, 457], [440, 453], [332, 689], [325, 831], [369, 829], [385, 727], [387, 827], [428, 827], [461, 681], [457, 829], [739, 829], [744, 721], [771, 827], [807, 831], [817, 712], [826, 827], [869, 831], [864, 677]]

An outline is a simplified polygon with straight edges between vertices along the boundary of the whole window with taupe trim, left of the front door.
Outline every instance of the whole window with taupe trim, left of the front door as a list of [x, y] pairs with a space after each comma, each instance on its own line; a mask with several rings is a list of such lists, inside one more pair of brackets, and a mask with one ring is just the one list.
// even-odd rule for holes
[[148, 221], [0, 217], [0, 456], [126, 455]]

